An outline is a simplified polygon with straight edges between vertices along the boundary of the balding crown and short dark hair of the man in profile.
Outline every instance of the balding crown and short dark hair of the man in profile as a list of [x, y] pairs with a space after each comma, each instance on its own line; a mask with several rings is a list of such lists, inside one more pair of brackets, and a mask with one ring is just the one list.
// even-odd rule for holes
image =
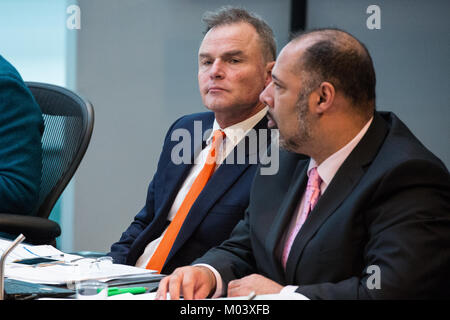
[[327, 81], [350, 99], [361, 113], [371, 116], [375, 109], [375, 70], [366, 47], [349, 33], [318, 29], [292, 40], [299, 46], [296, 72], [303, 73], [308, 87]]

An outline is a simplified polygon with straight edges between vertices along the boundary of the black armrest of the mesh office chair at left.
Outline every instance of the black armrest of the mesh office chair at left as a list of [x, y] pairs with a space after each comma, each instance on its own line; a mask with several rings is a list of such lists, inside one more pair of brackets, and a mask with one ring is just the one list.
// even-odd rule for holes
[[20, 214], [0, 213], [0, 232], [22, 233], [26, 242], [55, 239], [61, 234], [61, 228], [55, 221]]

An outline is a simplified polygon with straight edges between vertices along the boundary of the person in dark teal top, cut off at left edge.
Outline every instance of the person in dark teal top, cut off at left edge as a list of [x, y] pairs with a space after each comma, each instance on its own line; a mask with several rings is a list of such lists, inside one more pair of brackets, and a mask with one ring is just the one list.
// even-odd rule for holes
[[0, 213], [36, 210], [43, 131], [41, 109], [17, 70], [0, 56]]

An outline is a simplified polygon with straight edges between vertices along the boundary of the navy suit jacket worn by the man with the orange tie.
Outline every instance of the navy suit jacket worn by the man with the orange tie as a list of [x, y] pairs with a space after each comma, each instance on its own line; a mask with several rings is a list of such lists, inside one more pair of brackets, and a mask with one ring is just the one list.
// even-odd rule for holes
[[[145, 207], [136, 215], [120, 240], [111, 246], [111, 252], [108, 253], [114, 262], [136, 264], [147, 244], [160, 237], [167, 227], [169, 210], [192, 168], [192, 164], [172, 162], [171, 153], [179, 141], [171, 141], [171, 135], [176, 129], [185, 129], [193, 137], [194, 121], [201, 121], [202, 130], [205, 132], [212, 128], [214, 114], [205, 112], [184, 116], [171, 126], [164, 141], [156, 173], [148, 188]], [[267, 119], [264, 117], [254, 129], [267, 129]], [[259, 146], [260, 135], [257, 137]], [[269, 143], [270, 136], [267, 139], [266, 142]], [[252, 162], [249, 159], [255, 156], [252, 153], [257, 152], [259, 155], [259, 152], [254, 146], [248, 147], [247, 137], [240, 143], [246, 146], [245, 163], [227, 164], [225, 160], [218, 167], [189, 211], [162, 273], [168, 274], [179, 266], [188, 265], [211, 247], [219, 245], [228, 238], [236, 223], [243, 218], [248, 205], [251, 182], [257, 169], [257, 163], [249, 163]], [[191, 163], [204, 146], [204, 141], [191, 139]], [[233, 156], [237, 159], [236, 150], [237, 147], [228, 157]]]

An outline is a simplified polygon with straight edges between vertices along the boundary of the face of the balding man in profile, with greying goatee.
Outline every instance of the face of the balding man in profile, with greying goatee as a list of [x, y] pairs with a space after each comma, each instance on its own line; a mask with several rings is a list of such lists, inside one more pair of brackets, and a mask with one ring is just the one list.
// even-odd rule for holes
[[311, 88], [304, 87], [304, 79], [294, 71], [297, 61], [295, 47], [286, 46], [273, 68], [272, 82], [261, 93], [260, 100], [269, 106], [268, 126], [279, 129], [280, 145], [292, 152], [305, 153], [305, 145], [313, 134], [309, 111]]

